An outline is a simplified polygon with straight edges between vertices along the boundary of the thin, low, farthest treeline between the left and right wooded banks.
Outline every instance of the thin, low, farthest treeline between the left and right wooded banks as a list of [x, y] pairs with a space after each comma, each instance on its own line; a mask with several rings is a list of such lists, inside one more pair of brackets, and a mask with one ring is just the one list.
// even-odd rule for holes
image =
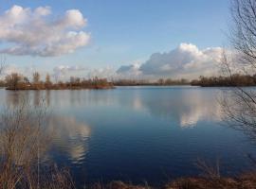
[[116, 86], [139, 86], [139, 85], [190, 85], [190, 81], [185, 78], [159, 78], [157, 81], [149, 81], [143, 79], [119, 79], [112, 81]]

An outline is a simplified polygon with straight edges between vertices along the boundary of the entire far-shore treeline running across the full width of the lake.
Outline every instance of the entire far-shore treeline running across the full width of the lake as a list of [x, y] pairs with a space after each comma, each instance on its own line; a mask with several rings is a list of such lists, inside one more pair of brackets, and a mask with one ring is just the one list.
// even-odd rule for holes
[[68, 81], [52, 82], [47, 74], [44, 81], [38, 72], [35, 72], [32, 79], [18, 73], [12, 73], [0, 80], [0, 87], [8, 90], [64, 90], [64, 89], [112, 89], [114, 86], [172, 86], [172, 85], [192, 85], [201, 87], [234, 87], [234, 86], [256, 86], [256, 75], [239, 75], [231, 77], [199, 77], [192, 81], [181, 78], [159, 78], [156, 81], [145, 79], [117, 79], [111, 82], [107, 78], [93, 77], [89, 79], [81, 77], [70, 77]]

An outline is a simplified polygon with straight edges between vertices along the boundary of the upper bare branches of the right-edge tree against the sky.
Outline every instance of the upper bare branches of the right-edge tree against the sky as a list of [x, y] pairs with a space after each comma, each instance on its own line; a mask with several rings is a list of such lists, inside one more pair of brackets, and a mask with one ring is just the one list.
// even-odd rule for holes
[[[230, 29], [230, 41], [239, 53], [239, 62], [256, 69], [256, 1], [232, 0], [231, 15], [233, 26]], [[246, 71], [244, 69], [244, 71]]]

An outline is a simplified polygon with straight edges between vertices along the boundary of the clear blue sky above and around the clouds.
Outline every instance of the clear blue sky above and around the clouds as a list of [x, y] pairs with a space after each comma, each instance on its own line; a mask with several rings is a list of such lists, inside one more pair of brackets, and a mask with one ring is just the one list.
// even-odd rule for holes
[[[71, 54], [6, 55], [10, 64], [48, 72], [58, 65], [119, 69], [143, 63], [155, 52], [170, 52], [180, 43], [205, 49], [227, 41], [229, 0], [1, 0], [0, 5], [1, 14], [13, 5], [30, 9], [49, 6], [52, 18], [61, 17], [68, 9], [79, 9], [87, 19], [81, 29], [90, 35], [89, 43]], [[2, 39], [0, 47], [8, 45]]]

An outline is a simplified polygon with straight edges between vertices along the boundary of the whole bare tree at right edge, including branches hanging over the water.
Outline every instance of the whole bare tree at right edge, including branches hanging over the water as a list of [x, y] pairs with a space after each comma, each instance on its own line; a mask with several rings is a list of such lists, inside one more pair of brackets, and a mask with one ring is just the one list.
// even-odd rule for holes
[[[244, 73], [256, 83], [256, 0], [231, 0], [233, 26], [230, 29], [232, 55], [223, 52], [222, 73], [229, 85], [220, 100], [225, 123], [244, 131], [256, 141], [256, 90], [239, 86], [234, 73]], [[256, 165], [255, 157], [248, 155]]]

